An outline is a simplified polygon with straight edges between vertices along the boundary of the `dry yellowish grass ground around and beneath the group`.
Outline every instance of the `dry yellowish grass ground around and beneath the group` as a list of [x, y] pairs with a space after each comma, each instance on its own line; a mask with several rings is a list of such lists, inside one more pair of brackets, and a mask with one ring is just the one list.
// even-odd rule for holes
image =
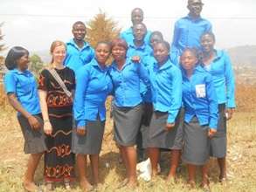
[[[210, 174], [212, 192], [256, 191], [256, 171], [254, 169], [256, 162], [256, 115], [255, 110], [253, 111], [253, 107], [251, 107], [253, 103], [256, 103], [256, 96], [254, 94], [256, 88], [251, 87], [248, 89], [246, 86], [239, 87], [239, 110], [228, 123], [227, 161], [231, 181], [225, 186], [218, 183], [216, 162], [211, 160]], [[3, 90], [0, 89], [0, 91]], [[3, 96], [1, 96], [2, 93], [0, 94], [1, 98], [3, 98]], [[247, 99], [243, 97], [247, 97]], [[15, 112], [10, 109], [10, 106], [3, 105], [6, 103], [6, 100], [4, 102], [0, 100], [0, 103], [0, 192], [24, 191], [21, 183], [28, 155], [23, 152], [24, 141], [20, 127], [17, 124]], [[244, 106], [242, 105], [243, 103], [245, 104]], [[115, 188], [125, 175], [125, 168], [119, 163], [118, 159], [118, 150], [113, 141], [112, 121], [108, 118], [103, 148], [100, 154], [100, 179], [101, 182], [104, 183], [100, 191], [118, 191], [115, 190]], [[169, 159], [170, 154], [163, 154], [161, 176], [157, 178], [156, 182], [141, 181], [138, 191], [189, 191], [185, 184], [187, 179], [185, 166], [183, 166], [181, 172], [178, 173], [176, 185], [166, 186], [164, 178], [169, 170]], [[109, 163], [108, 168], [105, 166], [106, 163]], [[37, 170], [36, 182], [43, 184], [43, 160], [40, 162], [40, 166]], [[59, 186], [55, 191], [60, 192], [65, 191], [65, 189]], [[72, 191], [80, 191], [77, 183], [75, 183]], [[196, 192], [202, 190], [198, 186], [197, 189], [190, 191]]]

